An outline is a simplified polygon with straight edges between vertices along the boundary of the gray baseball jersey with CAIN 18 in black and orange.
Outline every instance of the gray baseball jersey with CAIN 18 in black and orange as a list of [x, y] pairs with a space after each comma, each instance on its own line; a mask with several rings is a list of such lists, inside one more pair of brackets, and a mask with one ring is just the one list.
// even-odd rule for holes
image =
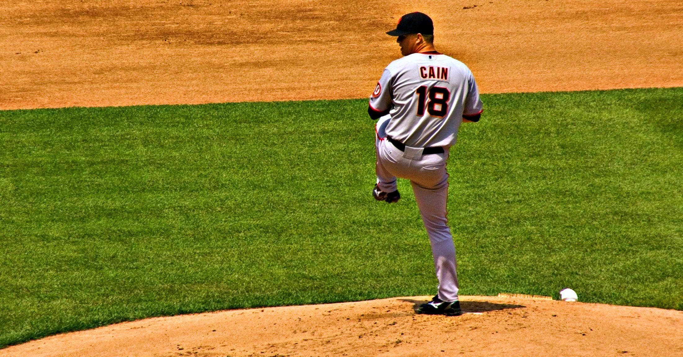
[[370, 108], [390, 109], [387, 135], [410, 147], [450, 147], [462, 116], [482, 113], [474, 76], [464, 63], [437, 52], [413, 53], [385, 68]]

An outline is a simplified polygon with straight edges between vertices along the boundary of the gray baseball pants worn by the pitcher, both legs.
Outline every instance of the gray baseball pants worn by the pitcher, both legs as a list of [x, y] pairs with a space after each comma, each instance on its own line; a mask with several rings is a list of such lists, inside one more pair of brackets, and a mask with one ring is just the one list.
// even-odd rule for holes
[[[384, 120], [382, 120], [384, 119]], [[419, 149], [397, 149], [385, 139], [387, 117], [379, 119], [376, 126], [375, 149], [377, 154], [377, 184], [384, 192], [398, 189], [396, 177], [410, 180], [415, 193], [417, 208], [432, 245], [432, 257], [438, 279], [438, 298], [443, 301], [458, 300], [458, 274], [456, 273], [456, 247], [446, 217], [448, 173], [444, 154], [421, 155]], [[407, 157], [406, 157], [407, 156]]]

